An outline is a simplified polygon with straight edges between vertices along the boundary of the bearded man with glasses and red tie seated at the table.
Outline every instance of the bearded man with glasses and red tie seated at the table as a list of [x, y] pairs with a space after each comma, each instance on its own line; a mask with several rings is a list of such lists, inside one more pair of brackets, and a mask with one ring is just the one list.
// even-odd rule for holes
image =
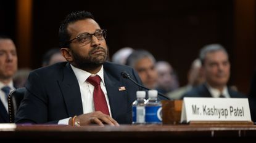
[[16, 123], [118, 126], [131, 123], [131, 104], [139, 90], [121, 73], [141, 83], [127, 66], [107, 62], [102, 29], [89, 12], [72, 12], [59, 28], [60, 51], [67, 62], [31, 72]]

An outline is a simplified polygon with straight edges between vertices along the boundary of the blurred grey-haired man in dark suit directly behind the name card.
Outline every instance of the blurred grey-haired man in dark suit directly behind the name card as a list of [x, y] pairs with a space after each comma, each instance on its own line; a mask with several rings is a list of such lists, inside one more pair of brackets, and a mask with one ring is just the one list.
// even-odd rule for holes
[[226, 85], [230, 63], [225, 48], [219, 44], [206, 45], [200, 50], [199, 58], [206, 82], [185, 93], [185, 97], [246, 98]]

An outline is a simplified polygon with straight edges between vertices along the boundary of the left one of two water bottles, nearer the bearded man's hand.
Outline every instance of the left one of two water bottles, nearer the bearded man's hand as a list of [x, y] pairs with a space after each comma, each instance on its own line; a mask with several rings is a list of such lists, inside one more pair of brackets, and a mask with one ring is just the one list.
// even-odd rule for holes
[[133, 102], [133, 124], [145, 123], [145, 97], [146, 91], [137, 91], [137, 99]]

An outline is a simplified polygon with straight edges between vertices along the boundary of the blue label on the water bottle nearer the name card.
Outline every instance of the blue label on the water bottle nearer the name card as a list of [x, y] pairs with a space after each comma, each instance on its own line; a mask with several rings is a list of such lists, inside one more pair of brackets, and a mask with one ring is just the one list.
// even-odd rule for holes
[[146, 123], [162, 123], [162, 107], [161, 106], [146, 106]]

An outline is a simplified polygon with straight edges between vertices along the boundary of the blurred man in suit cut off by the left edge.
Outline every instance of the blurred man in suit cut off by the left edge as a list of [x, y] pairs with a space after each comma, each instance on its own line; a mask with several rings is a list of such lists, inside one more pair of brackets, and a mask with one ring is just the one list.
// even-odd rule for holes
[[17, 68], [14, 42], [9, 37], [0, 36], [0, 123], [9, 123], [7, 96], [15, 89], [12, 78]]

